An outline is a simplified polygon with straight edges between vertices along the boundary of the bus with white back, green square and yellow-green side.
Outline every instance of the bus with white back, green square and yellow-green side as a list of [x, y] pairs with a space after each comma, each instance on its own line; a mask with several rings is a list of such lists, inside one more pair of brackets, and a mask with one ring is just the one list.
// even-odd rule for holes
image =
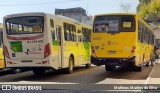
[[[90, 67], [91, 26], [68, 17], [20, 13], [4, 17], [4, 51], [8, 68], [30, 68], [36, 75], [48, 69]], [[84, 33], [83, 33], [84, 32]]]

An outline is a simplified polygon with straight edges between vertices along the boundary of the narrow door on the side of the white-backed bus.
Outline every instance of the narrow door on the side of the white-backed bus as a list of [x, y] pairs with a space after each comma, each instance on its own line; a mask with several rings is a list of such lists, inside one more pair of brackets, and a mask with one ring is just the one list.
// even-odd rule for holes
[[58, 41], [58, 62], [59, 66], [62, 67], [62, 27], [56, 26], [56, 34], [57, 34], [57, 41]]

